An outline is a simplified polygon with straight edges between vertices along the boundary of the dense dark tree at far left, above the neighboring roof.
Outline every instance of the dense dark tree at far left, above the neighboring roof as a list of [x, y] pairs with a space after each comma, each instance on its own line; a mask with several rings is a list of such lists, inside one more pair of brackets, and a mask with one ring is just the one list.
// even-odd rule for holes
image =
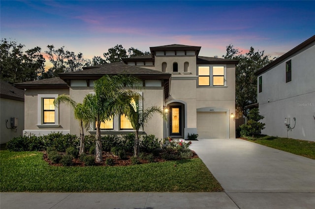
[[25, 46], [15, 41], [1, 39], [1, 80], [12, 83], [37, 80], [44, 72], [45, 59], [40, 47], [23, 52]]

